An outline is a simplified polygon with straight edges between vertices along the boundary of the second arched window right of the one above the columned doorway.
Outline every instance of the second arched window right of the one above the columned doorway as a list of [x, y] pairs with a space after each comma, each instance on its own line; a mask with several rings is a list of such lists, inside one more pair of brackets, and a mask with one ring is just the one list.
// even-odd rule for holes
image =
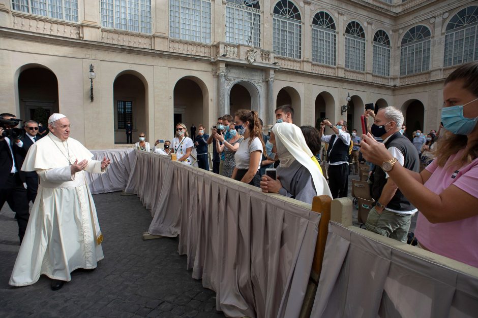
[[323, 11], [312, 20], [312, 61], [335, 66], [335, 22]]

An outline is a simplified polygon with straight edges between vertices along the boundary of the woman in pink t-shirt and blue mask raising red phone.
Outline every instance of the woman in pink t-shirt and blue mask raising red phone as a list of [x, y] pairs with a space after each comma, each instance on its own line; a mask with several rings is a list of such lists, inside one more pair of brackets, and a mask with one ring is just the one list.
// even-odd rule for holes
[[478, 62], [446, 78], [441, 121], [446, 131], [436, 158], [420, 173], [395, 164], [370, 134], [360, 151], [419, 209], [415, 236], [422, 248], [478, 267]]

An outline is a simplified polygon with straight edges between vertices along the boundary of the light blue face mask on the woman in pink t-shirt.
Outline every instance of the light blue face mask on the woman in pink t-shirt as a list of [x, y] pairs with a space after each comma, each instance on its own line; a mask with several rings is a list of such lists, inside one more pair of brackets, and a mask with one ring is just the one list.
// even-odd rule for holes
[[472, 101], [469, 101], [463, 105], [444, 107], [441, 110], [441, 121], [443, 122], [443, 127], [456, 135], [467, 135], [473, 131], [474, 127], [476, 126], [476, 122], [478, 122], [478, 117], [464, 117], [463, 108], [475, 100], [478, 100], [478, 98], [473, 99]]

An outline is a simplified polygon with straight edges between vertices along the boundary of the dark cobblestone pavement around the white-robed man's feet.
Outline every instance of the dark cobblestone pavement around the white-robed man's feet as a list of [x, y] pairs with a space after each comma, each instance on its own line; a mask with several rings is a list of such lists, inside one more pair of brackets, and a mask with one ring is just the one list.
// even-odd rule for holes
[[152, 220], [136, 196], [94, 195], [105, 258], [93, 271], [76, 270], [59, 291], [50, 279], [14, 288], [8, 285], [19, 244], [14, 214], [0, 211], [0, 317], [224, 317], [216, 294], [186, 270], [177, 238], [143, 241]]

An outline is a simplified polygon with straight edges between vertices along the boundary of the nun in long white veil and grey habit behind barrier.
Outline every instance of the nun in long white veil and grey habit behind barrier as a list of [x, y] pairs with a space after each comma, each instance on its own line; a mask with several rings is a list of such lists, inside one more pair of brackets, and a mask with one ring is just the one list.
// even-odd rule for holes
[[263, 175], [260, 187], [263, 192], [279, 193], [296, 200], [311, 203], [314, 196], [332, 197], [327, 181], [312, 161], [312, 152], [306, 144], [301, 128], [289, 123], [272, 127], [270, 143], [274, 144], [280, 164], [277, 179]]

